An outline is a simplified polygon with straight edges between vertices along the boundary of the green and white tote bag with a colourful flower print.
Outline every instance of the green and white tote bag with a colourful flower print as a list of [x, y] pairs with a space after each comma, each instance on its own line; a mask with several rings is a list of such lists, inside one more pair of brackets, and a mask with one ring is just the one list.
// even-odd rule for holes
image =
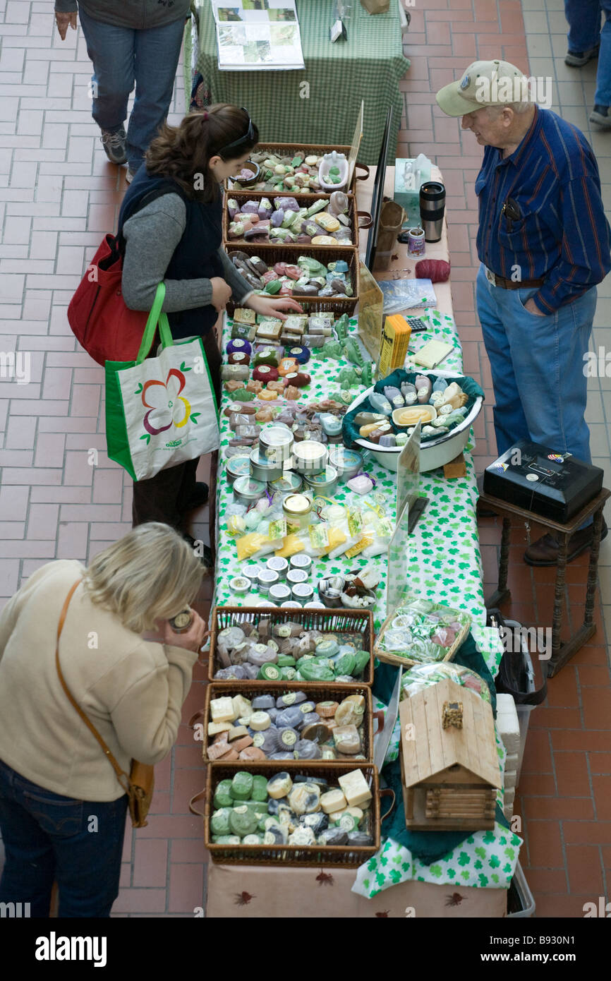
[[[107, 361], [108, 455], [134, 481], [219, 448], [219, 409], [201, 337], [175, 341], [161, 283], [135, 361]], [[147, 357], [159, 325], [161, 352]]]

